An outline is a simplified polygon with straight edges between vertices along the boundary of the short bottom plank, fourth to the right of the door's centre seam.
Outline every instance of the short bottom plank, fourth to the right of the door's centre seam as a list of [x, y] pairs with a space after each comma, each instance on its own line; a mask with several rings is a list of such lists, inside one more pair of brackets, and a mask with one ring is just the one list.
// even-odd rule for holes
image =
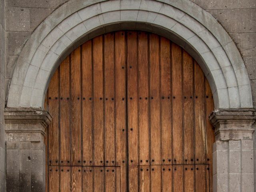
[[172, 191], [172, 166], [171, 165], [162, 166], [162, 188], [163, 188], [163, 192]]

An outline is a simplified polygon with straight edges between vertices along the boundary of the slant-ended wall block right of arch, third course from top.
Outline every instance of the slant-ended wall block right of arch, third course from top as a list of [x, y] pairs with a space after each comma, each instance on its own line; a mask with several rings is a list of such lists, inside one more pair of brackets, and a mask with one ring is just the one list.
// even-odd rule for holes
[[230, 33], [242, 56], [256, 55], [256, 33]]

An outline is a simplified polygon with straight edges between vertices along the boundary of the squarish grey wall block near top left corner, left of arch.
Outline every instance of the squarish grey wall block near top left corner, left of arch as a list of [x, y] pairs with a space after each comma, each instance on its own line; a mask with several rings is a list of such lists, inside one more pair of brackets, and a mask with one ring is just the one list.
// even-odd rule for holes
[[28, 8], [6, 7], [5, 16], [6, 31], [30, 30], [30, 14]]

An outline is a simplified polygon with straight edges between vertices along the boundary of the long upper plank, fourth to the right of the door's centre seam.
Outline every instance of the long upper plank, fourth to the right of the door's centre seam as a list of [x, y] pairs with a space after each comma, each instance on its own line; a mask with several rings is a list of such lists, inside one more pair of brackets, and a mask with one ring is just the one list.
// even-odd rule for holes
[[160, 38], [162, 164], [172, 164], [170, 40]]

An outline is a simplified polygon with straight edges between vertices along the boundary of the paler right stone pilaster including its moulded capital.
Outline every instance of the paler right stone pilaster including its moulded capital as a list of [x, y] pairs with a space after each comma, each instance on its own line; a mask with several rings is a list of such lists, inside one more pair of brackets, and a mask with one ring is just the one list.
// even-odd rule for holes
[[254, 192], [254, 154], [251, 109], [215, 110], [210, 121], [215, 127], [213, 146], [214, 192]]

